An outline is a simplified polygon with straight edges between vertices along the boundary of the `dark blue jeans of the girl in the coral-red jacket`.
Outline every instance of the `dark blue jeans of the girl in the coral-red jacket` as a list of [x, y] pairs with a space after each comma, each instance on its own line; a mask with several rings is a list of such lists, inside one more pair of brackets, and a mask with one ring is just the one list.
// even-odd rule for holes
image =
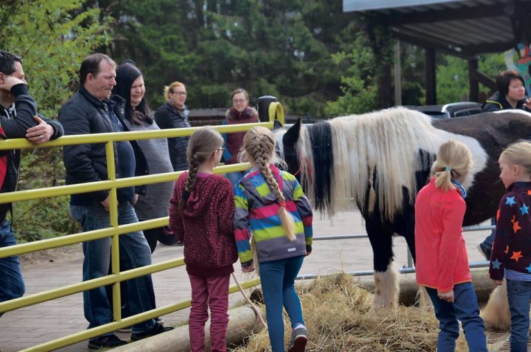
[[454, 303], [443, 301], [437, 297], [437, 290], [426, 288], [429, 298], [434, 304], [435, 316], [439, 320], [438, 352], [454, 352], [459, 337], [460, 320], [469, 351], [488, 352], [485, 339], [485, 325], [479, 316], [476, 293], [471, 282], [454, 286]]

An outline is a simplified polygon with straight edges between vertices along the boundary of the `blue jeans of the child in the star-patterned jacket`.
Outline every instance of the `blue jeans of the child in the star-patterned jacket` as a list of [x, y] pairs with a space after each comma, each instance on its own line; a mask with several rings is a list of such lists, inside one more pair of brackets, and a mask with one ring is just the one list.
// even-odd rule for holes
[[507, 299], [511, 312], [511, 352], [528, 351], [531, 281], [508, 279]]

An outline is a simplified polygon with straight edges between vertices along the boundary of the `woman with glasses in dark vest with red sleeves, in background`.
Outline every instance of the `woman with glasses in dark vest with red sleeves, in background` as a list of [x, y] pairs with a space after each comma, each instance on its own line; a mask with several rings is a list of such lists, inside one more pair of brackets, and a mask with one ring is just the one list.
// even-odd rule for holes
[[[259, 122], [258, 112], [249, 106], [249, 94], [245, 89], [236, 89], [230, 95], [232, 100], [232, 107], [225, 113], [225, 120], [223, 124], [245, 124]], [[225, 164], [238, 163], [238, 153], [240, 147], [243, 144], [244, 132], [234, 132], [223, 134], [223, 140], [225, 140], [225, 150], [223, 151], [223, 160]], [[230, 180], [232, 185], [236, 185], [240, 178], [243, 176], [243, 172], [231, 172], [225, 174]]]

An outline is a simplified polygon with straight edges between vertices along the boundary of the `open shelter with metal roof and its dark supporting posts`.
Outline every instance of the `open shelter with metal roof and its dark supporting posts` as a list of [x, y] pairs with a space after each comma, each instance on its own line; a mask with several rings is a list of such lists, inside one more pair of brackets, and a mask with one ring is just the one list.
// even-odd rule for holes
[[[425, 48], [426, 104], [436, 104], [436, 52], [467, 59], [469, 100], [478, 102], [478, 54], [501, 53], [531, 43], [531, 0], [343, 0], [344, 12], [360, 12], [367, 24], [384, 25], [400, 41]], [[371, 26], [367, 26], [371, 28]], [[380, 104], [391, 106], [391, 65], [382, 67]], [[531, 92], [528, 92], [531, 93]]]

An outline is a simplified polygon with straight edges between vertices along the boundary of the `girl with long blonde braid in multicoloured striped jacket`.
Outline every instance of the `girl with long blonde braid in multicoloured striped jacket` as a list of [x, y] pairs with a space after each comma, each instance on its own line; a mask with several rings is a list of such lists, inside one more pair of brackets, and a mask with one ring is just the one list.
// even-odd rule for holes
[[285, 307], [292, 326], [288, 352], [302, 352], [308, 331], [294, 285], [304, 257], [312, 251], [312, 208], [295, 176], [279, 170], [276, 159], [269, 129], [253, 127], [245, 133], [241, 160], [252, 168], [234, 187], [234, 236], [242, 270], [252, 272], [252, 232], [272, 351], [284, 351]]

